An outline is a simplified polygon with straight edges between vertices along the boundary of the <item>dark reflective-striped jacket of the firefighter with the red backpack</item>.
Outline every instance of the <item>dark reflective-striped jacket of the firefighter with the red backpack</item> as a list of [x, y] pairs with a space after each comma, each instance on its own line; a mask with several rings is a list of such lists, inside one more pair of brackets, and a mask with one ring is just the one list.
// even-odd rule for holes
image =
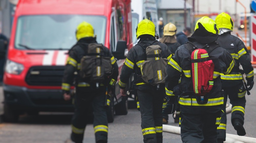
[[[202, 48], [205, 44], [191, 40], [197, 48]], [[234, 67], [234, 60], [231, 55], [222, 47], [217, 47], [208, 53], [210, 59], [214, 63], [213, 84], [212, 90], [206, 95], [208, 96], [208, 103], [198, 104], [196, 95], [191, 95], [188, 98], [181, 97], [179, 103], [181, 104], [182, 113], [202, 113], [202, 112], [218, 112], [224, 102], [224, 97], [221, 95], [221, 78], [220, 73], [229, 74]], [[167, 76], [165, 78], [166, 94], [170, 97], [174, 96], [173, 88], [178, 85], [181, 78], [180, 85], [187, 85], [188, 91], [193, 91], [193, 82], [191, 76], [191, 55], [184, 45], [181, 45], [175, 52], [175, 55], [168, 61], [166, 68]], [[193, 106], [193, 107], [191, 107]]]

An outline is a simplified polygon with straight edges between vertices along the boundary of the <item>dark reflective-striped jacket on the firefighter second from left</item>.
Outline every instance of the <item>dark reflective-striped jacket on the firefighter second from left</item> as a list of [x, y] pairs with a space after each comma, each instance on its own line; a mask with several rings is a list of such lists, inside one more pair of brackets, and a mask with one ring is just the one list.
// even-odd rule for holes
[[122, 67], [121, 74], [120, 74], [120, 80], [119, 80], [120, 88], [124, 89], [126, 87], [126, 84], [128, 83], [128, 80], [132, 73], [135, 73], [136, 81], [134, 82], [134, 84], [136, 86], [147, 85], [141, 78], [140, 65], [145, 60], [147, 60], [146, 47], [154, 43], [160, 45], [162, 49], [161, 51], [162, 58], [168, 59], [172, 56], [171, 51], [168, 49], [168, 47], [165, 44], [160, 43], [159, 41], [156, 41], [155, 38], [153, 37], [140, 38], [138, 44], [131, 48], [124, 62], [124, 65]]

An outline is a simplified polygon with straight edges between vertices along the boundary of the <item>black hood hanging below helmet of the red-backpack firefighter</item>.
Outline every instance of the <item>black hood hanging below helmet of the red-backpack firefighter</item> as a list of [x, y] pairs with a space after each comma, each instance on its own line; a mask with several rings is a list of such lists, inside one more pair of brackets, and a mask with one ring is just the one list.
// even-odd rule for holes
[[189, 41], [198, 41], [199, 43], [211, 43], [217, 40], [219, 37], [218, 34], [213, 34], [207, 31], [201, 23], [198, 23], [198, 28], [192, 34], [191, 37], [188, 37]]

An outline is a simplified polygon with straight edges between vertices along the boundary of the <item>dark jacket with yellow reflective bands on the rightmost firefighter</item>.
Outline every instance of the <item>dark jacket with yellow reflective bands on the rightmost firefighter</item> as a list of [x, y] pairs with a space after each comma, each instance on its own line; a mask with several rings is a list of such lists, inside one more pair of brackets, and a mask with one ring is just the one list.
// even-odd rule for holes
[[220, 35], [217, 42], [232, 55], [236, 63], [233, 72], [227, 75], [221, 74], [223, 87], [233, 87], [243, 81], [243, 75], [239, 73], [240, 64], [243, 67], [247, 79], [253, 80], [254, 72], [251, 65], [250, 54], [244, 42], [234, 35], [231, 35], [230, 32]]

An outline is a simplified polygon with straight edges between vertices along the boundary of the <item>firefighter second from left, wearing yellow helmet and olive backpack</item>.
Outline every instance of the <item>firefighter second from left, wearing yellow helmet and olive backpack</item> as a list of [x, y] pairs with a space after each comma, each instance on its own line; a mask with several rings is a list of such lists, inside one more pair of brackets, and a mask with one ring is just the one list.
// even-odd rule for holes
[[144, 143], [162, 143], [162, 104], [165, 96], [165, 85], [160, 85], [159, 90], [157, 90], [156, 86], [146, 84], [142, 80], [140, 67], [147, 60], [145, 50], [147, 46], [160, 45], [162, 58], [168, 58], [171, 56], [171, 52], [165, 44], [155, 39], [155, 25], [152, 21], [144, 19], [139, 22], [136, 34], [139, 42], [129, 51], [121, 70], [120, 93], [125, 96], [124, 89], [129, 77], [135, 73], [134, 88], [136, 88], [139, 98], [143, 141]]

